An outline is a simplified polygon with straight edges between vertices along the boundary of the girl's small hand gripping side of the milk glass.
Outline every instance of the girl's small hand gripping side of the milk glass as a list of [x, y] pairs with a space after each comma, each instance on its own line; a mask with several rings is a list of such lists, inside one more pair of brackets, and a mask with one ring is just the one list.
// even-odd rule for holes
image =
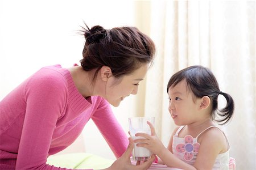
[[134, 143], [139, 142], [136, 146], [146, 147], [155, 155], [160, 155], [160, 153], [167, 148], [164, 147], [163, 143], [157, 137], [154, 126], [149, 121], [147, 121], [147, 124], [150, 126], [151, 135], [146, 133], [137, 133], [135, 134], [136, 137], [144, 137], [145, 139], [135, 139]]

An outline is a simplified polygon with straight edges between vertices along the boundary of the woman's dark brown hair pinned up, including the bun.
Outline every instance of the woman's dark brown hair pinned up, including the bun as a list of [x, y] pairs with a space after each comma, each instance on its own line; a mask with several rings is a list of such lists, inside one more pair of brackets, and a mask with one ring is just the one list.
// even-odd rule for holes
[[80, 63], [86, 71], [96, 69], [92, 83], [102, 66], [109, 66], [113, 76], [121, 78], [133, 73], [144, 63], [152, 63], [155, 56], [154, 42], [137, 28], [86, 27], [81, 30], [86, 41]]

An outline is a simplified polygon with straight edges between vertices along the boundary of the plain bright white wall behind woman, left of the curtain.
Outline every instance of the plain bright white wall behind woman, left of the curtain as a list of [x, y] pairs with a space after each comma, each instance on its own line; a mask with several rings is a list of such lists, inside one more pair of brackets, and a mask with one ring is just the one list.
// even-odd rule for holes
[[[40, 67], [70, 67], [82, 58], [84, 38], [75, 31], [83, 20], [89, 27], [134, 26], [133, 1], [0, 1], [0, 100]], [[127, 117], [136, 98], [113, 108], [127, 131]], [[92, 122], [82, 138], [87, 152], [114, 159]], [[81, 151], [82, 151], [81, 147]]]

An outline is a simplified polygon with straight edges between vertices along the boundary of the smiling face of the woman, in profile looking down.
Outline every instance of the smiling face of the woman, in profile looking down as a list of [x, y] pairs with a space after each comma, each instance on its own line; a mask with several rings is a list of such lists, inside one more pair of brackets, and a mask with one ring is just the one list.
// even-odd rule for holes
[[125, 75], [120, 79], [115, 78], [114, 76], [110, 77], [105, 87], [105, 99], [114, 107], [118, 107], [125, 97], [130, 94], [136, 95], [138, 92], [139, 82], [144, 79], [148, 67], [148, 64], [144, 64], [132, 74]]

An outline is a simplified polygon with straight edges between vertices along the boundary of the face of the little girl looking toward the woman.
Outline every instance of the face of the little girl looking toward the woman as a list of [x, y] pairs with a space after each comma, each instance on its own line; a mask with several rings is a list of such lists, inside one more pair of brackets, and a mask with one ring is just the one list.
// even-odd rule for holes
[[168, 90], [170, 98], [169, 112], [176, 125], [188, 125], [200, 120], [200, 99], [197, 99], [187, 87], [185, 80]]

